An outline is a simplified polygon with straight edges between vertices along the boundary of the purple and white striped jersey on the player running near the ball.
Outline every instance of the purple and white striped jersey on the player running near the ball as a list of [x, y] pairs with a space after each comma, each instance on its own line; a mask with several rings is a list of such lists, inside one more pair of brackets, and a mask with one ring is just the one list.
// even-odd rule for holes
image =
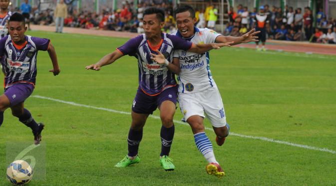
[[37, 51], [47, 50], [50, 40], [29, 35], [25, 35], [25, 40], [20, 46], [12, 42], [10, 35], [0, 40], [0, 56], [4, 58], [1, 63], [6, 74], [5, 88], [20, 82], [35, 84]]

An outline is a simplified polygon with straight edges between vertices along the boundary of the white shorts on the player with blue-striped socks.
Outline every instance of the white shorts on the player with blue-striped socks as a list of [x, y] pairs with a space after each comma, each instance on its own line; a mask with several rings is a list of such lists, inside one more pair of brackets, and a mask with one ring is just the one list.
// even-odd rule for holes
[[184, 121], [190, 116], [198, 115], [204, 118], [206, 115], [212, 126], [226, 125], [223, 101], [217, 87], [195, 93], [179, 93], [178, 101]]

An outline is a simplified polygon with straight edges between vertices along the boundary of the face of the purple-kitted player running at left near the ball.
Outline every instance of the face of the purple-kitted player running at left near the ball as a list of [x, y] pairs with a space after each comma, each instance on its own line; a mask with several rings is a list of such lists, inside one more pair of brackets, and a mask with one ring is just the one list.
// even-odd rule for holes
[[24, 32], [27, 30], [23, 22], [9, 21], [8, 32], [15, 43], [24, 41]]

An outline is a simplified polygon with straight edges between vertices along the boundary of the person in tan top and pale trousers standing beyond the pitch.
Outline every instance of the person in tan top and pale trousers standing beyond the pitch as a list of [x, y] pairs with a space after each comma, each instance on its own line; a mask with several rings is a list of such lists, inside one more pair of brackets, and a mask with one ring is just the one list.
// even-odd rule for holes
[[56, 32], [62, 33], [64, 19], [67, 16], [68, 16], [67, 6], [64, 3], [64, 0], [59, 0], [59, 3], [57, 3], [55, 11], [54, 11]]

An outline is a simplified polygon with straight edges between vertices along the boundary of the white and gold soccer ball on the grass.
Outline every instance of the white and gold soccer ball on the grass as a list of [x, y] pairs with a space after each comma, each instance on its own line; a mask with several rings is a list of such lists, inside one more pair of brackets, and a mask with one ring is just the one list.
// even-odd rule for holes
[[32, 179], [32, 168], [23, 160], [16, 160], [7, 168], [7, 180], [13, 185], [24, 185]]

